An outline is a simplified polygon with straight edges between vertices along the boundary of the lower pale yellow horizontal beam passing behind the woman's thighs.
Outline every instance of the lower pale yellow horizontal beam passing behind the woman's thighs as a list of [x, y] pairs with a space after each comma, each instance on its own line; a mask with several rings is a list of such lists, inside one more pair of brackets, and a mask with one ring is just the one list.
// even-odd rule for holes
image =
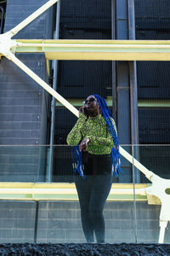
[[[136, 201], [147, 201], [148, 184], [135, 184]], [[74, 183], [0, 183], [0, 200], [78, 201]], [[107, 201], [133, 201], [133, 184], [113, 183]]]

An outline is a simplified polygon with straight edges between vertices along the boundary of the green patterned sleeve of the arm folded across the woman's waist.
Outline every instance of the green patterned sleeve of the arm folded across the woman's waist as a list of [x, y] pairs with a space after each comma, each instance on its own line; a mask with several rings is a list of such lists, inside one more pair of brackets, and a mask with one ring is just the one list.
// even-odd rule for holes
[[[115, 124], [115, 121], [114, 119], [111, 119], [113, 125], [114, 125], [114, 128], [116, 130], [116, 124]], [[117, 131], [116, 131], [116, 134], [117, 134]], [[93, 144], [94, 146], [99, 146], [99, 145], [104, 145], [104, 146], [109, 146], [109, 147], [114, 147], [115, 146], [115, 143], [113, 142], [113, 138], [111, 137], [111, 133], [109, 131], [107, 131], [107, 137], [98, 137], [98, 136], [95, 136], [95, 135], [92, 135], [92, 136], [88, 136], [89, 138], [89, 142], [90, 144]]]

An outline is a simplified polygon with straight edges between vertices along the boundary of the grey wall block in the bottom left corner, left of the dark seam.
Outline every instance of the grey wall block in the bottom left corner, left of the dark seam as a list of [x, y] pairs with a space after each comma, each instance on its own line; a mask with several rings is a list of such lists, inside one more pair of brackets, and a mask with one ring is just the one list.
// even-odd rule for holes
[[34, 242], [36, 202], [0, 201], [0, 243]]

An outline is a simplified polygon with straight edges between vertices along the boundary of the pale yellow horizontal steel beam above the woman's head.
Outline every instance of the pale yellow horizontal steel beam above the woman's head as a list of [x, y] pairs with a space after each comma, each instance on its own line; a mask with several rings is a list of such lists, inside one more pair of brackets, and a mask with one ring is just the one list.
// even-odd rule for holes
[[17, 39], [15, 52], [43, 52], [48, 60], [170, 61], [170, 40]]

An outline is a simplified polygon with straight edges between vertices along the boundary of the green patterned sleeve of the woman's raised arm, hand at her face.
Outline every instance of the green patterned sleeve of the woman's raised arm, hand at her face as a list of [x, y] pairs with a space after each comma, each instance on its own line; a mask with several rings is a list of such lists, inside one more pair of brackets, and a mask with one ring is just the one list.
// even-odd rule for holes
[[80, 113], [79, 118], [77, 119], [76, 125], [74, 125], [74, 127], [72, 128], [72, 130], [70, 131], [70, 133], [66, 138], [66, 142], [69, 146], [75, 146], [81, 141], [82, 139], [81, 129], [85, 120], [86, 120], [86, 116]]

